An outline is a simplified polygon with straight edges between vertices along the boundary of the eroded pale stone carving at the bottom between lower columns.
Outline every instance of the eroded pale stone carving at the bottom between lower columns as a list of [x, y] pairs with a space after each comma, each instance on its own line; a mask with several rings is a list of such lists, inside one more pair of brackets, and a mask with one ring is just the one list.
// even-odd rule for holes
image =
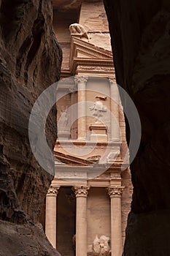
[[93, 255], [94, 256], [109, 256], [110, 255], [110, 246], [109, 246], [109, 237], [101, 236], [96, 238], [93, 241]]

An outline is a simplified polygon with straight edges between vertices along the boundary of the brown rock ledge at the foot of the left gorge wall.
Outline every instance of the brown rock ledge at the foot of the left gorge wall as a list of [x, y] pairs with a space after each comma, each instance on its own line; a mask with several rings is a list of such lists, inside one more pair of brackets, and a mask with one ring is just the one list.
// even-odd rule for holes
[[0, 221], [1, 256], [59, 256], [44, 235], [41, 225], [15, 225]]

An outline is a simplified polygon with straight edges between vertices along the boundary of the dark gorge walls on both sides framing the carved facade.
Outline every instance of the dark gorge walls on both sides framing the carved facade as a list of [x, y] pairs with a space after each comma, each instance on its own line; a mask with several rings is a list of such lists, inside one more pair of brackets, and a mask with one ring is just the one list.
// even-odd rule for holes
[[[58, 7], [61, 2], [69, 8], [67, 0], [53, 4]], [[53, 33], [53, 4], [0, 0], [1, 256], [59, 256], [39, 224], [53, 176], [36, 162], [28, 141], [34, 102], [60, 78], [62, 54]], [[74, 4], [80, 7], [80, 0]], [[140, 148], [131, 164], [134, 195], [123, 256], [170, 255], [170, 2], [104, 0], [104, 4], [117, 83], [134, 100], [142, 123]], [[53, 149], [55, 108], [47, 119], [46, 134]]]

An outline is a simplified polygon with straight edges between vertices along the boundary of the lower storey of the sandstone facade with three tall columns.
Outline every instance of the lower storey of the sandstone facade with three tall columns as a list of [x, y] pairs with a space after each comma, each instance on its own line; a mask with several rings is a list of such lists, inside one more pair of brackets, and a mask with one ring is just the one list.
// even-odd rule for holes
[[121, 177], [114, 176], [107, 172], [88, 181], [54, 178], [46, 196], [45, 233], [61, 255], [122, 255], [131, 175], [127, 169]]

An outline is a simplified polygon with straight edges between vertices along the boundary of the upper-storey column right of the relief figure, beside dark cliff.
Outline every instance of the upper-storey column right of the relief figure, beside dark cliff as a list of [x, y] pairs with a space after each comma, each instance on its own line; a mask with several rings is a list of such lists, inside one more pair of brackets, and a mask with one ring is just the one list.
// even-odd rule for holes
[[110, 98], [111, 98], [111, 140], [114, 142], [120, 142], [120, 128], [119, 128], [119, 105], [120, 96], [117, 88], [117, 84], [112, 80], [110, 82]]

